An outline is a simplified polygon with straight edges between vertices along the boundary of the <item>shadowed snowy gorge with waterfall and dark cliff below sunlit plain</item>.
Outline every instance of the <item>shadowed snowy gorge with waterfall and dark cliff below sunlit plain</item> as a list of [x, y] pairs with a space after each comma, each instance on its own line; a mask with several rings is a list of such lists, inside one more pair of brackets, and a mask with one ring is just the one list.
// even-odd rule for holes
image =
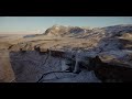
[[16, 82], [125, 82], [132, 81], [132, 68], [103, 63], [99, 56], [81, 52], [20, 50], [10, 52]]

